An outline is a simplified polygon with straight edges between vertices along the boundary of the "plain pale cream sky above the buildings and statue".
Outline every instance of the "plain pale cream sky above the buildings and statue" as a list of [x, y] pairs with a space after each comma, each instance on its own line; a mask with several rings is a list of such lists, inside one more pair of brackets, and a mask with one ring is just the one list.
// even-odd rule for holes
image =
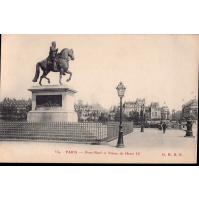
[[[31, 98], [37, 62], [49, 54], [52, 41], [59, 52], [72, 48], [73, 73], [62, 83], [78, 92], [75, 102], [118, 105], [116, 87], [126, 87], [124, 101], [145, 98], [146, 105], [159, 102], [171, 110], [198, 97], [199, 35], [3, 35], [1, 97]], [[40, 74], [41, 75], [41, 74]], [[49, 73], [51, 85], [59, 85], [59, 73]], [[48, 85], [47, 80], [42, 80]], [[193, 92], [194, 91], [194, 92]], [[182, 101], [184, 99], [184, 101]], [[166, 102], [164, 104], [164, 102]]]

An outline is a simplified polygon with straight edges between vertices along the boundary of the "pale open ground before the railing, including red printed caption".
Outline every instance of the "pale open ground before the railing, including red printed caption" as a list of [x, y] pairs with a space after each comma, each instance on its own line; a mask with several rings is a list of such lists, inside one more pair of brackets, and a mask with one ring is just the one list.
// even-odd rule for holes
[[185, 138], [185, 131], [145, 128], [124, 136], [124, 148], [117, 140], [107, 144], [0, 141], [0, 162], [47, 163], [195, 163], [197, 136]]

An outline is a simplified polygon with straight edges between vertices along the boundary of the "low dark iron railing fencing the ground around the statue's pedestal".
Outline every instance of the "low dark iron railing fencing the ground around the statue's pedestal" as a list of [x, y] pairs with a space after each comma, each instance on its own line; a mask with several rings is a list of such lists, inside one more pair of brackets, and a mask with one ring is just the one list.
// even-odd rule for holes
[[[118, 137], [119, 122], [0, 122], [0, 140], [103, 142]], [[133, 132], [133, 122], [123, 123], [123, 134]]]

